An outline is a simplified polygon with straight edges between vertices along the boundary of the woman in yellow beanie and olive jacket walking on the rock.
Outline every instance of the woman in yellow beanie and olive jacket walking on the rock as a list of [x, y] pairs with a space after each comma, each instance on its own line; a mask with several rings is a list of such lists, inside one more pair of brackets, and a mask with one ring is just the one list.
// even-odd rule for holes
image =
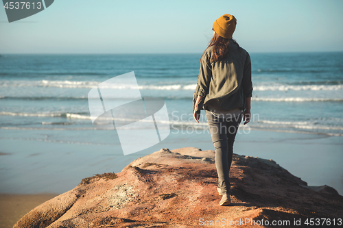
[[233, 142], [244, 116], [250, 121], [252, 97], [251, 62], [248, 52], [233, 40], [236, 18], [224, 14], [213, 23], [213, 38], [200, 59], [200, 72], [193, 96], [193, 116], [199, 123], [205, 110], [215, 147], [220, 205], [229, 205], [228, 173], [233, 158]]

